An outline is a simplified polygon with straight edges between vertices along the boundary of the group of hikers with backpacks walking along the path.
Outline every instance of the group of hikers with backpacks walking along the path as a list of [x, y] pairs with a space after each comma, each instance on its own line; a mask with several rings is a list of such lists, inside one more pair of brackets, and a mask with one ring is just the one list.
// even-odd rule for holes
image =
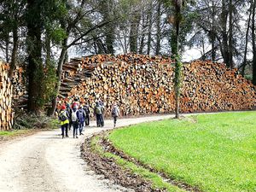
[[[94, 115], [96, 116], [96, 126], [104, 126], [104, 103], [96, 101], [94, 108]], [[119, 117], [119, 107], [116, 102], [113, 103], [111, 109], [113, 117], [113, 127], [116, 126], [117, 118]], [[90, 106], [89, 104], [79, 104], [79, 100], [75, 99], [72, 104], [67, 103], [61, 105], [61, 111], [58, 113], [58, 119], [61, 122], [61, 135], [62, 138], [68, 137], [68, 130], [70, 131], [73, 127], [73, 138], [79, 138], [79, 135], [84, 135], [84, 125], [90, 125]]]

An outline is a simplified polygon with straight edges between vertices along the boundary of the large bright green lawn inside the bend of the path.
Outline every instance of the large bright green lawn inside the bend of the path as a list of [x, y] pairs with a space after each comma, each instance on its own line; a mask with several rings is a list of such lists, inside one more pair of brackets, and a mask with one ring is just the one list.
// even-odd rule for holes
[[256, 112], [144, 123], [109, 138], [143, 164], [202, 191], [256, 191]]

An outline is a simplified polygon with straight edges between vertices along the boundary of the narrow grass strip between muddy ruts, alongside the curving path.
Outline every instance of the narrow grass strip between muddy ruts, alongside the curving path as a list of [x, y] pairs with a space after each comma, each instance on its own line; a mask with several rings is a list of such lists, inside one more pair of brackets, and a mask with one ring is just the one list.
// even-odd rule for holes
[[153, 184], [154, 189], [168, 189], [168, 191], [172, 192], [183, 192], [185, 190], [179, 189], [176, 186], [173, 186], [170, 183], [166, 183], [162, 177], [160, 177], [158, 174], [149, 172], [147, 169], [144, 169], [141, 166], [137, 166], [132, 162], [129, 162], [127, 160], [124, 160], [120, 158], [118, 155], [111, 154], [108, 152], [105, 152], [101, 145], [99, 144], [100, 137], [93, 137], [91, 140], [91, 149], [96, 152], [97, 154], [100, 154], [108, 159], [113, 159], [115, 162], [121, 166], [122, 168], [129, 170], [131, 173], [139, 175], [140, 177], [145, 178], [150, 183]]

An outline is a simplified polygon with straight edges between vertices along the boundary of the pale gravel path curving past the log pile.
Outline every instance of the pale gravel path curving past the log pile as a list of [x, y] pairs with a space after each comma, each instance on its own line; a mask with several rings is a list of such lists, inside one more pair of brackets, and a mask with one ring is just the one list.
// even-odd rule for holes
[[[118, 125], [171, 118], [173, 115], [119, 119]], [[95, 125], [91, 122], [91, 125]], [[132, 191], [114, 185], [90, 171], [80, 157], [84, 137], [111, 129], [112, 120], [104, 129], [89, 127], [79, 139], [62, 139], [60, 130], [42, 131], [30, 137], [0, 145], [0, 192], [120, 192]]]

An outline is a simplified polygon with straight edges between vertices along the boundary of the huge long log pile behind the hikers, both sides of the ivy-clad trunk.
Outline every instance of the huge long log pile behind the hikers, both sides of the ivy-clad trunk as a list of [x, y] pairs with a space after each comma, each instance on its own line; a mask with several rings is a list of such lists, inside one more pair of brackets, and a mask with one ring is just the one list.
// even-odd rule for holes
[[[256, 105], [255, 87], [236, 69], [211, 61], [195, 61], [183, 69], [184, 113], [242, 110]], [[173, 77], [169, 58], [94, 55], [64, 67], [61, 96], [66, 102], [79, 97], [90, 105], [102, 100], [108, 116], [113, 102], [119, 103], [123, 115], [172, 113]]]

